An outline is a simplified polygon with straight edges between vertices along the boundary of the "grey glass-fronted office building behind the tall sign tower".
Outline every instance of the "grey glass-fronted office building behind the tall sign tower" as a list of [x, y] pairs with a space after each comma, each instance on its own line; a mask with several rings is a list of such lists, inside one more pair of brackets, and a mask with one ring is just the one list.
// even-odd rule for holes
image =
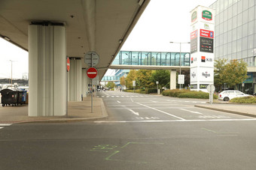
[[[215, 9], [215, 59], [243, 60], [249, 67], [256, 67], [256, 1], [217, 0]], [[248, 72], [245, 86], [247, 93], [256, 92], [256, 73]]]

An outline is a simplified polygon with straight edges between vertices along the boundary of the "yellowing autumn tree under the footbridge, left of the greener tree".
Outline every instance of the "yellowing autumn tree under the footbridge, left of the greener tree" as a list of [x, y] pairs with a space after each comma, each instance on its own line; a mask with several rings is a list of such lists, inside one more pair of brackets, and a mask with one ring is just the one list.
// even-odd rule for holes
[[136, 83], [139, 88], [153, 88], [154, 82], [151, 82], [152, 70], [138, 70]]

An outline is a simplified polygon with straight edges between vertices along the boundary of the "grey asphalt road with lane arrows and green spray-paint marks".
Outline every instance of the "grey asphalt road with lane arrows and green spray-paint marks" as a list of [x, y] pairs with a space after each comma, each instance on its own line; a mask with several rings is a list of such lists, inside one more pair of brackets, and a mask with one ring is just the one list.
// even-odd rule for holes
[[0, 169], [255, 169], [256, 119], [207, 100], [100, 92], [109, 118], [0, 124]]

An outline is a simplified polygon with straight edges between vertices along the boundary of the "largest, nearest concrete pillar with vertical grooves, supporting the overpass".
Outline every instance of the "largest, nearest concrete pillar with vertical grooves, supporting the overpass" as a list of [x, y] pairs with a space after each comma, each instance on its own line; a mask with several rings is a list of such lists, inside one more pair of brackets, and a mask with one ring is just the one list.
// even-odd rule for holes
[[29, 116], [66, 115], [66, 28], [29, 25]]

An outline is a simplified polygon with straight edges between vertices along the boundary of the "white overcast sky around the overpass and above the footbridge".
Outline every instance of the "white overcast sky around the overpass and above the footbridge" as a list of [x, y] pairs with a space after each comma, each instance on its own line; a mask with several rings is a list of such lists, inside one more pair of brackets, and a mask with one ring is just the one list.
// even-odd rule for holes
[[[215, 1], [151, 0], [121, 50], [179, 52], [179, 44], [169, 42], [190, 41], [190, 11]], [[183, 44], [181, 51], [190, 52], [190, 46]], [[29, 70], [28, 58], [28, 52], [0, 38], [0, 78], [11, 78], [11, 61], [13, 78], [22, 78]]]

